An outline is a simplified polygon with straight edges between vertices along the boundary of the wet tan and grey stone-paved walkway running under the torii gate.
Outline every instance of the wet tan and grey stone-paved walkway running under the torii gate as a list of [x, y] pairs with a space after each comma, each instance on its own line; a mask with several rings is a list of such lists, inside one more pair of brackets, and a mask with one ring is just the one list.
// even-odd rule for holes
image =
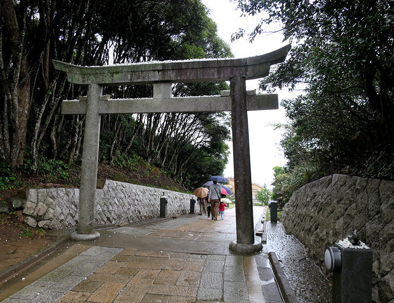
[[[254, 207], [255, 225], [265, 212]], [[234, 255], [235, 208], [225, 220], [183, 216], [100, 230], [67, 242], [0, 285], [2, 303], [283, 302], [264, 251]]]

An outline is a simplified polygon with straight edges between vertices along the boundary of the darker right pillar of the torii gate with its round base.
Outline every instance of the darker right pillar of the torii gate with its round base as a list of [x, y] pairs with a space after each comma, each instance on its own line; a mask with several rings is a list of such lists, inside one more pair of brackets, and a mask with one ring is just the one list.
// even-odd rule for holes
[[230, 243], [230, 250], [254, 253], [263, 245], [255, 242], [253, 223], [252, 177], [250, 172], [249, 129], [245, 78], [230, 79], [231, 125], [234, 181], [235, 217], [237, 240]]

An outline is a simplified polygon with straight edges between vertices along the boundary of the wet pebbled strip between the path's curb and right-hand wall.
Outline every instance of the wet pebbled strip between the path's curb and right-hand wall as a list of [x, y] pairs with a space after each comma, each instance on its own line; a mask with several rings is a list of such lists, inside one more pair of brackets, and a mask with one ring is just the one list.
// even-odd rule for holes
[[304, 245], [293, 235], [286, 235], [282, 223], [267, 222], [267, 246], [274, 251], [295, 290], [298, 302], [330, 303], [331, 281], [308, 258]]

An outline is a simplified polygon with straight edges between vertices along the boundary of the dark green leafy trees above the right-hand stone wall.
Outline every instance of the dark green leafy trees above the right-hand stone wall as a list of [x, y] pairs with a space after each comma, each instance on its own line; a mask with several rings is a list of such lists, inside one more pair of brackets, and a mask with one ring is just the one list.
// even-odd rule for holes
[[281, 190], [287, 201], [300, 186], [332, 173], [394, 179], [393, 5], [385, 0], [238, 3], [245, 15], [266, 14], [251, 40], [277, 22], [293, 44], [287, 61], [273, 68], [262, 88], [303, 89], [281, 104], [290, 122], [282, 126], [281, 141], [288, 163], [275, 177], [274, 193]]

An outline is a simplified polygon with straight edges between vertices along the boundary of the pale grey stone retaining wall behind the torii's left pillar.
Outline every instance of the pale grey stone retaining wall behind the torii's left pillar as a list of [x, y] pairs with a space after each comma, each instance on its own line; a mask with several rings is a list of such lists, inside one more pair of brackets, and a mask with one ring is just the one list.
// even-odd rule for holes
[[[132, 223], [160, 216], [160, 197], [168, 198], [167, 214], [190, 212], [194, 195], [106, 180], [96, 191], [95, 226]], [[26, 190], [23, 213], [26, 223], [42, 229], [60, 229], [78, 221], [79, 189], [51, 188]]]

